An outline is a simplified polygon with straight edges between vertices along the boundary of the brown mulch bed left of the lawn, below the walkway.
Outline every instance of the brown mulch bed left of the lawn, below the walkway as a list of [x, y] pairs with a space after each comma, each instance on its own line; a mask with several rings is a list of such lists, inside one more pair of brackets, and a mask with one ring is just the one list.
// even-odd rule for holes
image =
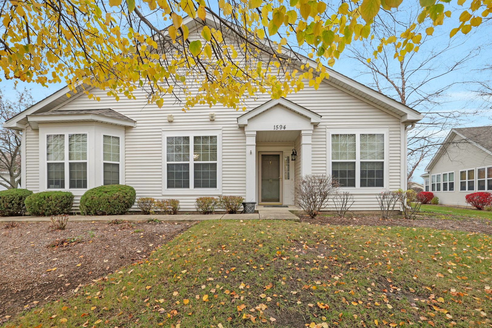
[[191, 226], [68, 222], [65, 230], [53, 230], [50, 224], [0, 224], [0, 324], [118, 268], [143, 263], [155, 247]]

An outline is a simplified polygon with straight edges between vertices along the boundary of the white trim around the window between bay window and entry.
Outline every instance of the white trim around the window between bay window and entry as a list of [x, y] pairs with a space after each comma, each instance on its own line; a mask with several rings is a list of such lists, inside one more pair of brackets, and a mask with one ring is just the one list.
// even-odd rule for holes
[[[167, 137], [217, 136], [217, 187], [194, 188], [193, 148], [190, 142], [189, 188], [167, 188]], [[162, 195], [219, 196], [222, 195], [222, 129], [217, 128], [170, 128], [162, 129]]]

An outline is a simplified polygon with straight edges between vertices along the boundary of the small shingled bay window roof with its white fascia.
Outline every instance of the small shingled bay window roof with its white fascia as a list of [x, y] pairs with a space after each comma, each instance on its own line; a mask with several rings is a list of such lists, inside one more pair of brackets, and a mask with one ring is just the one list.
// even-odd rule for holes
[[39, 123], [54, 122], [101, 122], [120, 126], [135, 126], [133, 119], [110, 108], [51, 111], [31, 114], [27, 116], [27, 119], [33, 130], [39, 129]]

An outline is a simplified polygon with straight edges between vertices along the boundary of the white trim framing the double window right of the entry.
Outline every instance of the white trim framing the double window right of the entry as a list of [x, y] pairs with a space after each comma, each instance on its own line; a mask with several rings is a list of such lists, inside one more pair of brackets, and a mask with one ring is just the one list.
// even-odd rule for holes
[[[368, 193], [372, 194], [374, 191], [383, 191], [389, 188], [390, 181], [390, 156], [389, 156], [389, 128], [336, 128], [336, 129], [326, 129], [326, 153], [328, 158], [327, 167], [327, 175], [331, 176], [332, 174], [332, 134], [355, 134], [355, 187], [341, 187], [339, 188], [342, 191], [353, 191], [357, 190], [358, 193]], [[361, 153], [360, 153], [360, 135], [361, 134], [384, 134], [384, 160], [367, 160], [372, 162], [384, 162], [384, 185], [383, 187], [361, 187]], [[340, 160], [340, 162], [351, 162], [354, 160]], [[362, 160], [363, 162], [366, 160]], [[366, 192], [365, 192], [366, 190]]]

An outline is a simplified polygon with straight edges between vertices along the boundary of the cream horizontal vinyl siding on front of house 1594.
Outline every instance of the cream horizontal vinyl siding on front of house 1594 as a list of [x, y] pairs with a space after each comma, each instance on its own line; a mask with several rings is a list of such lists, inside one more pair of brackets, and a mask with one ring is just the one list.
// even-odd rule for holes
[[[124, 97], [120, 101], [108, 97], [106, 91], [92, 89], [100, 101], [80, 95], [63, 104], [59, 110], [103, 109], [111, 108], [136, 121], [136, 127], [125, 129], [125, 177], [126, 184], [133, 186], [138, 197], [166, 198], [162, 195], [162, 129], [216, 128], [222, 130], [222, 183], [223, 195], [244, 196], [246, 193], [246, 137], [243, 128], [238, 128], [237, 118], [243, 111], [206, 105], [197, 105], [189, 112], [174, 98], [165, 99], [162, 108], [148, 104], [145, 92], [135, 92], [136, 100]], [[384, 127], [389, 129], [389, 187], [400, 188], [401, 170], [401, 123], [400, 119], [361, 100], [359, 97], [338, 89], [329, 82], [322, 83], [318, 90], [306, 88], [297, 94], [286, 97], [300, 106], [322, 116], [322, 121], [314, 127], [312, 135], [312, 173], [325, 174], [327, 167], [326, 129], [327, 128], [371, 128]], [[268, 95], [254, 100], [246, 100], [247, 110], [256, 108], [270, 100]], [[215, 121], [209, 120], [209, 113], [215, 113]], [[166, 116], [174, 115], [174, 121], [168, 122]], [[279, 118], [280, 119], [280, 118]], [[36, 131], [28, 132], [27, 141], [27, 182], [31, 189], [38, 181], [38, 149]], [[293, 134], [298, 135], [298, 134]], [[265, 140], [267, 141], [267, 140]], [[275, 140], [269, 140], [275, 141]], [[294, 140], [290, 140], [294, 141]], [[295, 140], [295, 148], [299, 149], [300, 139]], [[302, 153], [300, 153], [302, 156]], [[301, 173], [300, 161], [294, 164], [295, 177]], [[328, 172], [331, 173], [331, 172]], [[221, 181], [220, 181], [221, 180]], [[356, 193], [353, 210], [376, 210], [378, 208], [375, 194], [365, 191]], [[175, 196], [181, 201], [182, 210], [194, 210], [195, 195]]]

